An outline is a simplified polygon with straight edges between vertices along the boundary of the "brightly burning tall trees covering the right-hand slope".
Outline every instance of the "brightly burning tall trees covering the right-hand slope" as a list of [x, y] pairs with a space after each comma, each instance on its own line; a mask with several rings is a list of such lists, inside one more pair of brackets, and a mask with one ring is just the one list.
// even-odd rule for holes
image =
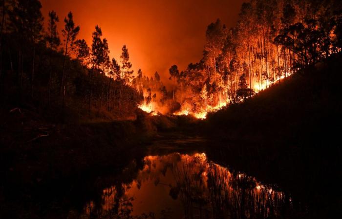
[[242, 5], [235, 28], [217, 19], [207, 28], [203, 58], [184, 71], [170, 68], [180, 114], [203, 118], [340, 52], [341, 5], [334, 0], [251, 0]]

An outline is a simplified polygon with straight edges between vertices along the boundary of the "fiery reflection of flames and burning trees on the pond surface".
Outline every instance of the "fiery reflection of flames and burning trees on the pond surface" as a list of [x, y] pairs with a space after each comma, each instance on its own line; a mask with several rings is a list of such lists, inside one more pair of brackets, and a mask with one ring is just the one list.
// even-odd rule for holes
[[[156, 186], [170, 187], [170, 192], [161, 193], [162, 197], [163, 194], [171, 195], [172, 189], [178, 191], [176, 199], [182, 201], [183, 207], [187, 209], [187, 212], [191, 212], [190, 214], [193, 214], [190, 210], [197, 209], [196, 204], [201, 201], [200, 203], [205, 203], [205, 205], [201, 205], [204, 209], [219, 207], [219, 210], [223, 211], [225, 215], [230, 213], [250, 215], [253, 213], [256, 216], [262, 216], [260, 218], [274, 218], [283, 209], [286, 199], [282, 192], [262, 184], [254, 177], [244, 173], [231, 172], [229, 168], [210, 161], [205, 153], [146, 156], [144, 167], [137, 174], [135, 174], [135, 165], [130, 168], [133, 169], [125, 168], [125, 171], [130, 173], [134, 170], [132, 172], [134, 173], [133, 180], [121, 184], [118, 183], [121, 181], [115, 181], [115, 185], [103, 189], [100, 202], [88, 202], [85, 205], [83, 216], [89, 218], [90, 215], [106, 215], [109, 212], [115, 212], [113, 211], [115, 206], [117, 206], [116, 211], [119, 210], [120, 213], [127, 212], [129, 216], [139, 215], [137, 209], [141, 207], [135, 204], [141, 203], [141, 200], [154, 204], [153, 199], [149, 200], [150, 194], [160, 191], [155, 190]], [[125, 179], [126, 174], [124, 174]], [[152, 183], [154, 186], [149, 186]], [[139, 192], [140, 190], [142, 192]], [[288, 201], [292, 203], [291, 198], [288, 198]], [[244, 210], [235, 207], [243, 206], [243, 203], [248, 203], [244, 205]], [[148, 206], [150, 207], [150, 205]], [[230, 211], [230, 207], [233, 207], [231, 209], [233, 211]], [[133, 211], [133, 209], [135, 210]], [[146, 209], [144, 208], [144, 210]], [[115, 217], [115, 215], [113, 216]]]

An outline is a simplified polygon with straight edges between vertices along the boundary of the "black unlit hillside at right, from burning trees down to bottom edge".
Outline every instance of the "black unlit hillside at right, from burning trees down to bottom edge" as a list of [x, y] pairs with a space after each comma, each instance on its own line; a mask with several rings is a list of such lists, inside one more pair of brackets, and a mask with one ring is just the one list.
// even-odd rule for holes
[[334, 55], [209, 115], [208, 157], [278, 184], [300, 201], [295, 208], [310, 209], [308, 218], [342, 215], [341, 69]]

